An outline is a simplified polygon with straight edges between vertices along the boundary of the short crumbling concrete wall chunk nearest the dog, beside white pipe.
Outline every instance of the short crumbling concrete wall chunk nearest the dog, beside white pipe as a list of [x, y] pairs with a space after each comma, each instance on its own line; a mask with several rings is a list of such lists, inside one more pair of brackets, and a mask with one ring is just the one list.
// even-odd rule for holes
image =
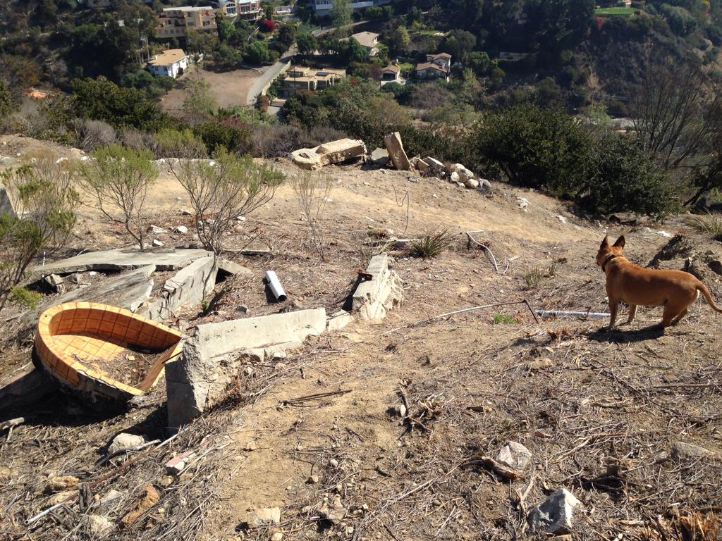
[[401, 304], [404, 289], [396, 271], [388, 268], [388, 255], [371, 258], [366, 273], [371, 279], [361, 282], [353, 294], [354, 309], [365, 320], [379, 320], [386, 310]]

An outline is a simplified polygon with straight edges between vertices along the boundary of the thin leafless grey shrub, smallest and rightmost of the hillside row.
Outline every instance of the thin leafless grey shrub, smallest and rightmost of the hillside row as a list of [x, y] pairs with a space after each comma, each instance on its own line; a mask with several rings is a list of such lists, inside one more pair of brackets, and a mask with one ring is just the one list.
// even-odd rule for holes
[[298, 205], [311, 232], [313, 249], [316, 250], [321, 260], [325, 261], [326, 229], [323, 221], [326, 205], [329, 203], [329, 195], [334, 187], [333, 180], [323, 173], [304, 171], [296, 175], [292, 182]]

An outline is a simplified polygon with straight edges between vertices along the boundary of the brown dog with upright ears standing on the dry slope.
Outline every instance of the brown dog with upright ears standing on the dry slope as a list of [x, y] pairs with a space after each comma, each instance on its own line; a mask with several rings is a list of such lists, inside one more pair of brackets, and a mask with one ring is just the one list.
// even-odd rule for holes
[[634, 320], [640, 304], [664, 307], [662, 322], [655, 325], [657, 329], [677, 325], [687, 315], [690, 304], [697, 300], [700, 292], [710, 307], [722, 313], [722, 308], [712, 300], [710, 290], [695, 276], [684, 271], [660, 271], [634, 265], [622, 255], [624, 247], [624, 236], [619, 237], [613, 245], [609, 244], [608, 237], [604, 237], [596, 254], [596, 264], [606, 274], [606, 294], [609, 296], [609, 312], [612, 315], [610, 329], [614, 328], [621, 301], [630, 307], [629, 319], [623, 325]]

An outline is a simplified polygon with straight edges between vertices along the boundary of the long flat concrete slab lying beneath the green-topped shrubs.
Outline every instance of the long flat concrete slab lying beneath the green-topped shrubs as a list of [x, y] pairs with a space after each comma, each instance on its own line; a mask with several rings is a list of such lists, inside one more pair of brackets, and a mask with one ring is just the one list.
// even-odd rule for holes
[[208, 250], [194, 248], [169, 248], [141, 252], [134, 248], [118, 248], [76, 255], [48, 265], [38, 266], [31, 273], [66, 274], [79, 271], [127, 271], [145, 265], [155, 265], [158, 271], [178, 271], [196, 259], [212, 255]]

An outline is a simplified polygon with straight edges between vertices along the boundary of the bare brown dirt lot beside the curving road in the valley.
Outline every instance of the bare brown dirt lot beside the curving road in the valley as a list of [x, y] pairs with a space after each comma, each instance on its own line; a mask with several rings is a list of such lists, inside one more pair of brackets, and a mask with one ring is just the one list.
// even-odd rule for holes
[[[210, 91], [215, 97], [219, 107], [233, 107], [246, 105], [248, 91], [253, 82], [261, 76], [255, 69], [235, 69], [233, 71], [213, 71], [209, 63], [201, 63], [203, 78], [210, 85]], [[189, 77], [196, 76], [192, 72], [183, 74], [178, 81], [183, 84]], [[183, 101], [186, 100], [188, 90], [174, 88], [160, 100], [160, 107], [167, 113], [178, 114], [183, 110]]]

